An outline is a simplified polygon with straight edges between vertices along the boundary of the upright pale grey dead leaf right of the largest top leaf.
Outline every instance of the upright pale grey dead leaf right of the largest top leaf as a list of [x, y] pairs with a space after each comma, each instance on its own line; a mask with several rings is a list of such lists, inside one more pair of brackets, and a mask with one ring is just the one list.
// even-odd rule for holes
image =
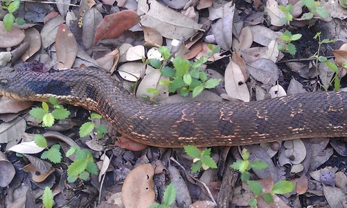
[[235, 3], [230, 1], [224, 4], [222, 18], [212, 25], [215, 41], [221, 49], [230, 50], [233, 44], [233, 14], [235, 12]]

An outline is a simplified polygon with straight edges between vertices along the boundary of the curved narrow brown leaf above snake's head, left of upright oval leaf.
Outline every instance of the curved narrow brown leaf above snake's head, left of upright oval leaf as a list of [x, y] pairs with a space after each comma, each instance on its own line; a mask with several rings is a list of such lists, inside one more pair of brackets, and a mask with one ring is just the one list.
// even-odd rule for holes
[[26, 35], [24, 41], [30, 44], [29, 49], [21, 55], [21, 60], [25, 62], [41, 48], [41, 37], [39, 36], [39, 31], [35, 28], [27, 28], [24, 33]]

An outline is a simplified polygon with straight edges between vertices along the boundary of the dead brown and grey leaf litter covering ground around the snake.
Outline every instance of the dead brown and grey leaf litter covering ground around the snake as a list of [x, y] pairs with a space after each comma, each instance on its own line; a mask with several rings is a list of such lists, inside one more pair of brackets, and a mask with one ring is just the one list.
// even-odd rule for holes
[[[40, 60], [54, 69], [94, 66], [112, 73], [117, 71], [118, 79], [130, 82], [128, 86], [138, 84], [134, 92], [138, 97], [147, 96], [160, 103], [194, 101], [191, 97], [169, 94], [168, 88], [160, 85], [168, 78], [143, 62], [143, 58], [150, 54], [148, 51], [154, 49], [151, 55], [155, 56], [159, 46], [171, 46], [172, 39], [181, 40], [183, 37], [184, 42], [181, 42], [176, 54], [190, 60], [208, 53], [208, 43], [219, 44], [222, 48], [222, 53], [215, 53], [204, 66], [211, 71], [212, 77], [222, 78], [221, 89], [204, 91], [195, 101], [222, 101], [222, 98], [232, 97], [247, 102], [320, 90], [320, 85], [330, 85], [334, 73], [328, 67], [317, 65], [310, 59], [300, 60], [309, 58], [317, 48], [312, 37], [319, 31], [312, 33], [305, 28], [319, 24], [321, 28], [342, 34], [335, 35], [339, 44], [329, 46], [324, 53], [340, 67], [340, 78], [347, 73], [344, 67], [347, 60], [346, 38], [341, 38], [344, 37], [341, 28], [334, 28], [341, 25], [336, 22], [346, 19], [346, 11], [337, 1], [321, 2], [321, 6], [330, 13], [330, 19], [314, 17], [310, 21], [303, 18], [301, 7], [297, 3], [294, 5], [292, 24], [298, 29], [292, 32], [304, 33], [304, 38], [307, 38], [297, 44], [299, 55], [295, 57], [278, 51], [278, 45], [283, 44], [279, 37], [285, 31], [285, 23], [281, 20], [284, 13], [278, 9], [281, 5], [278, 1], [267, 1], [263, 5], [267, 15], [257, 10], [262, 4], [260, 1], [236, 5], [226, 1], [168, 1], [168, 4], [166, 1], [117, 1], [117, 6], [115, 1], [57, 2], [56, 6], [22, 2], [18, 15], [24, 15], [27, 23], [20, 28], [14, 26], [12, 31], [6, 31], [3, 22], [0, 22], [1, 63], [8, 63], [8, 66], [17, 64], [20, 61], [15, 54], [21, 53], [19, 57], [22, 61]], [[76, 2], [79, 7], [69, 5]], [[252, 3], [254, 7], [250, 6]], [[331, 24], [331, 17], [335, 24]], [[32, 24], [28, 23], [30, 21]], [[334, 38], [329, 33], [322, 35], [323, 38]], [[16, 51], [24, 42], [28, 46]], [[305, 53], [309, 55], [303, 55]], [[343, 80], [341, 86], [346, 87], [346, 78]], [[157, 89], [159, 93], [152, 94], [148, 88]], [[28, 171], [31, 175], [29, 182], [36, 184], [33, 190], [30, 188], [35, 198], [42, 196], [42, 190], [47, 185], [56, 191], [54, 199], [58, 206], [94, 207], [94, 201], [98, 201], [100, 207], [148, 207], [154, 200], [160, 202], [168, 181], [179, 190], [175, 202], [177, 207], [215, 207], [215, 202], [220, 203], [215, 199], [224, 191], [220, 190], [226, 178], [222, 170], [229, 168], [226, 166], [228, 157], [222, 157], [221, 148], [213, 148], [213, 154], [223, 158], [220, 159], [219, 169], [189, 175], [190, 171], [186, 168], [193, 160], [180, 149], [147, 147], [124, 137], [116, 139], [112, 136], [116, 132], [100, 140], [96, 140], [93, 134], [88, 139], [78, 138], [73, 122], [66, 125], [64, 135], [47, 132], [46, 136], [55, 138], [53, 141], [60, 143], [63, 152], [75, 145], [93, 150], [94, 159], [100, 162], [100, 173], [98, 177], [91, 177], [90, 181], [80, 180], [85, 196], [63, 195], [63, 191], [69, 191], [70, 196], [77, 196], [78, 193], [69, 189], [77, 184], [66, 183], [66, 166], [39, 159], [39, 153], [44, 148], [38, 147], [28, 133], [45, 130], [26, 124], [26, 120], [30, 121], [26, 113], [32, 103], [1, 98], [0, 104], [0, 140], [3, 150], [6, 150], [0, 155], [1, 167], [6, 167], [1, 168], [1, 187], [23, 191], [15, 196], [6, 194], [6, 202], [11, 198], [12, 204], [24, 205], [30, 200], [30, 197], [22, 197], [29, 189], [28, 181], [21, 182], [21, 185], [10, 183], [23, 180], [15, 173], [23, 175], [27, 174], [24, 171]], [[87, 110], [71, 109], [74, 113], [70, 119], [82, 120], [89, 115]], [[274, 182], [284, 178], [296, 184], [292, 193], [274, 196], [277, 206], [298, 205], [302, 200], [296, 193], [304, 196], [305, 205], [314, 205], [317, 201], [311, 197], [317, 196], [319, 202], [330, 207], [346, 206], [346, 140], [317, 138], [262, 146], [247, 148], [251, 150], [251, 159], [262, 159], [269, 165], [264, 171], [252, 172], [253, 177], [263, 184], [265, 192], [272, 189]], [[229, 152], [229, 148], [224, 150]], [[231, 148], [231, 151], [235, 158], [240, 158], [237, 149]], [[17, 157], [15, 153], [23, 154], [26, 159]], [[175, 163], [171, 155], [174, 155]], [[71, 164], [74, 159], [69, 157], [64, 162]], [[156, 170], [154, 175], [154, 168], [161, 171]], [[38, 172], [41, 174], [37, 175]], [[58, 184], [60, 188], [57, 189]], [[234, 184], [232, 189], [229, 198], [233, 200], [229, 203], [233, 206], [247, 206], [254, 197], [244, 183]], [[260, 207], [274, 206], [268, 205], [263, 198], [257, 199]], [[12, 204], [8, 202], [8, 205]]]

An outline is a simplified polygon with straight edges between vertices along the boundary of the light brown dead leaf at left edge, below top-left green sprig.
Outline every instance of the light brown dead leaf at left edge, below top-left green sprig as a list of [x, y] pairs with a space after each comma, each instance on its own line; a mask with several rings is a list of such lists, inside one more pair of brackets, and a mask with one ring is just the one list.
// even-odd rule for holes
[[24, 33], [16, 26], [10, 31], [6, 31], [3, 21], [0, 21], [0, 48], [17, 46], [24, 40]]

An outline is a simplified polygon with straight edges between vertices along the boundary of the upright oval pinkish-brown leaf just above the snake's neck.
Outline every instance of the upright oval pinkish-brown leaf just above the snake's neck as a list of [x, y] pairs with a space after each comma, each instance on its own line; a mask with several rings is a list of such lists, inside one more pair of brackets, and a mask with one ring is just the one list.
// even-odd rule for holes
[[78, 45], [65, 24], [60, 24], [57, 30], [55, 49], [57, 50], [57, 69], [70, 69], [75, 62]]

